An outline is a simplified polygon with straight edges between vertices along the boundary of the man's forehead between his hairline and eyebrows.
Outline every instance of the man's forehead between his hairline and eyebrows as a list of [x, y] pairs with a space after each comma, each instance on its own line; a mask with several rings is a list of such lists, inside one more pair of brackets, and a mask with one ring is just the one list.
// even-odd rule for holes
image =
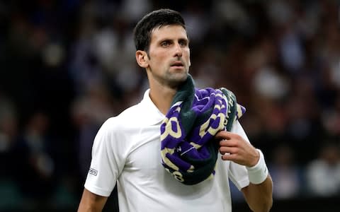
[[181, 25], [164, 25], [160, 28], [154, 28], [151, 33], [151, 42], [158, 42], [165, 39], [188, 39], [186, 29]]

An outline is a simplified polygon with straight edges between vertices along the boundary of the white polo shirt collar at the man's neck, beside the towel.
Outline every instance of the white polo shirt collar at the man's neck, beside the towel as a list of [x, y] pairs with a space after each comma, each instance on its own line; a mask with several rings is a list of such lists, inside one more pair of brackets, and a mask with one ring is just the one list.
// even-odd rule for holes
[[162, 114], [154, 105], [154, 102], [152, 102], [150, 95], [149, 95], [150, 89], [147, 89], [144, 93], [143, 100], [140, 102], [143, 106], [142, 112], [147, 116], [145, 117], [145, 124], [154, 125], [154, 124], [160, 124], [163, 119], [165, 118], [165, 115]]

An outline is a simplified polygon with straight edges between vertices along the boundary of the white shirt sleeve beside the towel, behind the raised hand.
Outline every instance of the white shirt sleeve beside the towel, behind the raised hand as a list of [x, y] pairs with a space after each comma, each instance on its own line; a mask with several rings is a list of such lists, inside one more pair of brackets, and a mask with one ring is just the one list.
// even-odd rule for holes
[[[240, 136], [242, 136], [242, 138], [249, 142], [249, 139], [246, 136], [244, 129], [242, 128], [241, 124], [239, 124], [238, 121], [236, 121], [233, 124], [232, 132], [239, 134]], [[249, 178], [246, 167], [244, 165], [239, 165], [232, 161], [230, 161], [229, 165], [229, 179], [234, 183], [234, 185], [239, 190], [249, 185]]]

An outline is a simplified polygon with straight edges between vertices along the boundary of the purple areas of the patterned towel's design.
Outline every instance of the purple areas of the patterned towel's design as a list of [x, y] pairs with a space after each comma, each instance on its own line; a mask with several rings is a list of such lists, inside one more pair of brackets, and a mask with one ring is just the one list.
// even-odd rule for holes
[[[164, 148], [176, 148], [174, 153], [171, 155], [170, 153], [166, 153], [166, 158], [168, 158], [176, 167], [179, 167], [182, 171], [187, 171], [190, 165], [184, 160], [181, 159], [181, 156], [184, 154], [187, 154], [190, 158], [197, 158], [199, 159], [205, 159], [208, 158], [209, 152], [207, 148], [205, 148], [205, 143], [210, 141], [215, 134], [210, 134], [210, 131], [208, 129], [218, 129], [217, 131], [220, 131], [223, 129], [223, 124], [221, 126], [220, 124], [220, 117], [221, 114], [225, 116], [227, 114], [228, 105], [226, 102], [226, 98], [223, 97], [223, 93], [221, 90], [215, 90], [212, 88], [206, 88], [195, 90], [195, 98], [193, 100], [193, 105], [191, 107], [191, 110], [194, 111], [194, 113], [191, 115], [191, 117], [186, 117], [187, 119], [185, 122], [196, 122], [196, 119], [200, 117], [201, 115], [205, 115], [207, 117], [206, 120], [203, 120], [203, 122], [208, 121], [208, 125], [206, 129], [200, 129], [201, 124], [199, 125], [193, 125], [191, 129], [188, 129], [188, 131], [184, 131], [182, 127], [182, 120], [180, 116], [180, 112], [178, 111], [181, 107], [183, 102], [181, 104], [174, 104], [173, 107], [169, 110], [169, 112], [166, 114], [167, 119], [171, 119], [171, 117], [176, 117], [175, 120], [178, 120], [179, 126], [181, 127], [181, 136], [178, 138], [171, 136], [171, 134], [168, 134], [163, 140], [161, 149]], [[215, 107], [215, 105], [217, 107]], [[214, 108], [215, 107], [215, 108]], [[213, 109], [212, 109], [213, 108]], [[212, 109], [212, 111], [211, 111]], [[210, 110], [210, 114], [207, 115], [208, 110]], [[225, 118], [225, 117], [222, 117]], [[201, 120], [202, 122], [202, 120]], [[167, 123], [169, 124], [169, 122]], [[171, 121], [171, 130], [174, 132], [178, 132], [177, 129], [177, 123], [175, 121]], [[161, 134], [164, 134], [166, 129], [169, 130], [169, 128], [166, 128], [166, 123], [162, 123], [161, 126]], [[200, 147], [195, 148], [191, 143], [196, 143]], [[164, 161], [162, 161], [164, 163]]]

